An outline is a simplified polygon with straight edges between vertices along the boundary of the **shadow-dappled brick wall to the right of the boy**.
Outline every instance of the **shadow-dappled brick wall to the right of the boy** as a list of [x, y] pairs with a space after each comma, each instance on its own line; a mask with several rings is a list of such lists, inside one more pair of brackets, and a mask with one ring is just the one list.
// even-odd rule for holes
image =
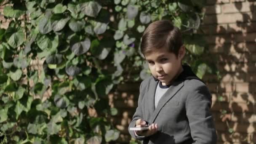
[[213, 94], [218, 141], [253, 143], [256, 141], [255, 0], [211, 0], [205, 11], [202, 30], [209, 51], [217, 57], [222, 76], [215, 83], [209, 79], [214, 76], [205, 77]]

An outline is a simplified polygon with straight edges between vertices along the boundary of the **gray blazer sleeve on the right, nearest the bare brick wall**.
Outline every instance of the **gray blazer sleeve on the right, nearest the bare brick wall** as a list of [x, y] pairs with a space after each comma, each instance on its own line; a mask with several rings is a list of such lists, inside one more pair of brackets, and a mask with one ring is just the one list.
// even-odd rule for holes
[[216, 144], [216, 129], [210, 111], [211, 94], [206, 85], [199, 85], [194, 91], [189, 92], [186, 114], [193, 144]]

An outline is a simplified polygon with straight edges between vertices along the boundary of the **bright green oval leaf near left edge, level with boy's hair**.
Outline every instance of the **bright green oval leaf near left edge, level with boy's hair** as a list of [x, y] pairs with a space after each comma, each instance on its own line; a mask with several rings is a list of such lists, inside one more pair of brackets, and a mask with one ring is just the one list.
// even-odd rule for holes
[[11, 35], [11, 37], [8, 39], [8, 44], [13, 48], [17, 48], [24, 42], [24, 40], [25, 40], [24, 32], [18, 31]]

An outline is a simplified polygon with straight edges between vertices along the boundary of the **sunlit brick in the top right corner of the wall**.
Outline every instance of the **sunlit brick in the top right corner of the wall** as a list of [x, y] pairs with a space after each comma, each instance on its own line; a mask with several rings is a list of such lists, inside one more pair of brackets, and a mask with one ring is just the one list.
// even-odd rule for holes
[[228, 3], [221, 5], [222, 13], [241, 13], [253, 11], [253, 3]]

